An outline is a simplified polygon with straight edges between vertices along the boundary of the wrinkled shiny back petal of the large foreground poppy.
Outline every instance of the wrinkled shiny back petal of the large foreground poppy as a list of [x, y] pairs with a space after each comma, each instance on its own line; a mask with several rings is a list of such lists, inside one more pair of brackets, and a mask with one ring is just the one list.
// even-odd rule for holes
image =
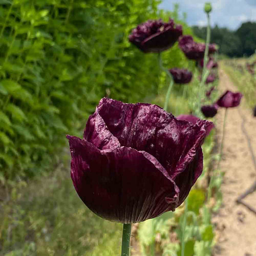
[[157, 105], [125, 104], [108, 98], [100, 101], [98, 113], [121, 146], [146, 151], [158, 159], [171, 177], [196, 142], [202, 144], [205, 126], [210, 123], [199, 120], [192, 125], [175, 119]]

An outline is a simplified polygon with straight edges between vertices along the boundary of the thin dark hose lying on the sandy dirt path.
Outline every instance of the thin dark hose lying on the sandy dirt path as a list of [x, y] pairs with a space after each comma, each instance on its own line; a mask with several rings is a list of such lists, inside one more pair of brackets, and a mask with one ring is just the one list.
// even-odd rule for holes
[[[248, 144], [248, 147], [249, 147], [249, 151], [251, 153], [251, 158], [253, 160], [253, 165], [254, 165], [254, 169], [256, 171], [256, 158], [255, 158], [255, 155], [254, 155], [254, 152], [253, 152], [253, 147], [252, 147], [252, 144], [251, 144], [251, 139], [245, 129], [245, 126], [244, 126], [244, 123], [245, 123], [245, 118], [243, 116], [243, 114], [241, 113], [241, 111], [239, 110], [238, 108], [238, 113], [240, 115], [240, 117], [242, 118], [242, 124], [241, 124], [241, 128], [242, 128], [242, 132], [243, 134], [245, 135], [246, 137], [246, 140], [247, 140], [247, 144]], [[242, 201], [242, 199], [244, 199], [244, 197], [246, 197], [247, 195], [253, 193], [254, 191], [256, 191], [256, 181], [242, 194], [240, 195], [237, 199], [236, 199], [236, 202], [238, 204], [242, 204], [244, 205], [245, 207], [247, 207], [250, 211], [252, 211], [253, 213], [256, 214], [256, 209], [254, 209], [253, 207], [249, 206], [248, 204], [244, 203]]]

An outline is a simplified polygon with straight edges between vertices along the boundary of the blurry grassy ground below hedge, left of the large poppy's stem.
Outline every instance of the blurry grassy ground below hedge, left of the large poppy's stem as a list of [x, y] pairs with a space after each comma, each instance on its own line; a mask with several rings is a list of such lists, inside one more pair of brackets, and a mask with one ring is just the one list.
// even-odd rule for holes
[[33, 182], [16, 183], [2, 195], [6, 198], [0, 202], [3, 256], [120, 253], [122, 224], [101, 219], [85, 207], [67, 169], [58, 168]]

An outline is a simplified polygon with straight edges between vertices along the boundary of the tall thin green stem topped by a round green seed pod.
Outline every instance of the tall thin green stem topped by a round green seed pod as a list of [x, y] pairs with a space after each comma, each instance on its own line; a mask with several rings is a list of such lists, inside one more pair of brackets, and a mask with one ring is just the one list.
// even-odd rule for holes
[[206, 82], [209, 71], [207, 70], [207, 61], [208, 61], [208, 52], [209, 52], [209, 44], [210, 44], [210, 35], [211, 35], [211, 26], [210, 26], [210, 15], [207, 13], [207, 35], [206, 35], [206, 49], [204, 55], [204, 67], [202, 72], [201, 83], [199, 87], [199, 97], [198, 97], [198, 112], [201, 109], [201, 97], [202, 97], [202, 88]]

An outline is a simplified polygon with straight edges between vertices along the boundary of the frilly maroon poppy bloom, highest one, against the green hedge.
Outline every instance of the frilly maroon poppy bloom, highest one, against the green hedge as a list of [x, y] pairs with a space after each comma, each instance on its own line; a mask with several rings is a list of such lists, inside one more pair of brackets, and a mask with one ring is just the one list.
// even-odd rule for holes
[[182, 35], [182, 26], [160, 20], [149, 20], [138, 25], [129, 36], [129, 41], [143, 52], [160, 52], [171, 48]]

